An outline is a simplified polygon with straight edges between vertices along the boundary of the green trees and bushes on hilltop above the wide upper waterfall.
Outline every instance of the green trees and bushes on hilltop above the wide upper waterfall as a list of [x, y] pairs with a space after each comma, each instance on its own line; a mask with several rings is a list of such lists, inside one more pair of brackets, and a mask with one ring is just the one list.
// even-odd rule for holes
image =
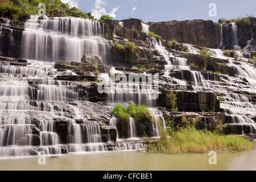
[[71, 8], [68, 3], [63, 3], [60, 0], [1, 0], [0, 15], [13, 20], [17, 20], [20, 14], [29, 18], [32, 14], [38, 14], [39, 3], [46, 4], [47, 16], [62, 16], [65, 14], [65, 16], [94, 19], [91, 13], [85, 13], [76, 7]]

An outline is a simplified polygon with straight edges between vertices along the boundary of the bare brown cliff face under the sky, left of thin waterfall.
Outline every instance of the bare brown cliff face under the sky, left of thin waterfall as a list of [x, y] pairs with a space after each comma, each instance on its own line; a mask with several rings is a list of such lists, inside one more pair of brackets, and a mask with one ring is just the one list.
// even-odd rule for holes
[[220, 40], [220, 25], [210, 20], [187, 20], [149, 22], [150, 31], [166, 40], [217, 48]]

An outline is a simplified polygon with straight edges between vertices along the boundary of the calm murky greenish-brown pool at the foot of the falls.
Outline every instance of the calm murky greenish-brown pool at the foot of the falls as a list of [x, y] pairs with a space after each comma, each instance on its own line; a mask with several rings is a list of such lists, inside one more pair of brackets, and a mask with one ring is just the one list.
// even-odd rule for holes
[[234, 171], [256, 170], [256, 147], [236, 154], [217, 154], [217, 165], [210, 165], [208, 154], [165, 155], [138, 151], [82, 152], [46, 156], [46, 165], [39, 165], [39, 156], [0, 159], [4, 171]]

